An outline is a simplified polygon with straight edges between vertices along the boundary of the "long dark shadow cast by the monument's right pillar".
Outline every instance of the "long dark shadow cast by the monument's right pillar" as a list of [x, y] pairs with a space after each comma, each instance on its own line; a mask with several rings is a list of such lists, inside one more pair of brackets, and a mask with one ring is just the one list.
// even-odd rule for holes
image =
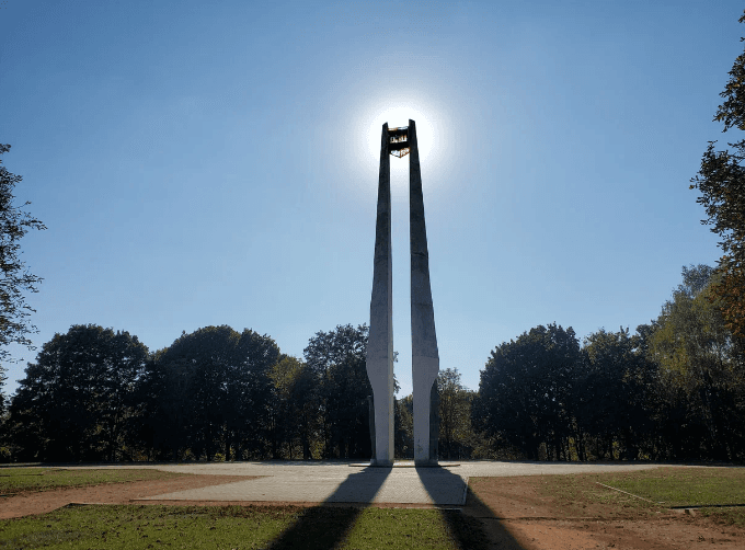
[[[416, 473], [438, 507], [458, 548], [485, 549], [496, 545], [500, 550], [526, 550], [460, 475], [439, 466], [417, 467]], [[447, 486], [457, 488], [457, 502], [451, 496], [452, 491], [445, 490]]]

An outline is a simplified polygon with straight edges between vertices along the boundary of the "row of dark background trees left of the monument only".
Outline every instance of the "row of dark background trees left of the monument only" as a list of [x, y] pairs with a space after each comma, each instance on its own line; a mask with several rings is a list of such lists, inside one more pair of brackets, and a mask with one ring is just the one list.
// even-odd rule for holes
[[369, 458], [367, 326], [319, 332], [305, 362], [252, 330], [207, 326], [149, 353], [73, 325], [44, 344], [3, 417], [5, 458]]

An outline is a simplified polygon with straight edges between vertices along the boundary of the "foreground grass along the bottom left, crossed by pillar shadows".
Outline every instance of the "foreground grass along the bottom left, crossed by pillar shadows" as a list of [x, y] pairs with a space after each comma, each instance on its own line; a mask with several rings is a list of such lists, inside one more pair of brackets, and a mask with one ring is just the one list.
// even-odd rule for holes
[[[309, 550], [483, 548], [462, 514], [436, 509], [298, 506], [76, 506], [0, 520], [0, 549], [210, 548]], [[478, 540], [477, 540], [478, 539]]]

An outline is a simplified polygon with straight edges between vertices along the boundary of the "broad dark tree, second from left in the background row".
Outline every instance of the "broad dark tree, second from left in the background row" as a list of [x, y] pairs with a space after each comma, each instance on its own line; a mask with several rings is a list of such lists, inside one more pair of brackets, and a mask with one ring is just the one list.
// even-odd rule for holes
[[270, 371], [279, 348], [267, 335], [227, 325], [183, 333], [156, 354], [144, 382], [153, 444], [179, 457], [264, 457], [272, 429]]

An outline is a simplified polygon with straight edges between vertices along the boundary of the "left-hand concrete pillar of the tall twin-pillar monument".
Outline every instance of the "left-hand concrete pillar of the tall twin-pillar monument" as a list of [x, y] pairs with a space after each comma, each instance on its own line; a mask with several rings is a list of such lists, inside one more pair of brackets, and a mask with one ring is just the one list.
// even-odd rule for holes
[[370, 463], [376, 466], [393, 463], [393, 295], [389, 142], [388, 124], [383, 124], [380, 139], [378, 214], [375, 227], [375, 263], [366, 365], [367, 377], [373, 386], [374, 423], [371, 424], [375, 431]]

